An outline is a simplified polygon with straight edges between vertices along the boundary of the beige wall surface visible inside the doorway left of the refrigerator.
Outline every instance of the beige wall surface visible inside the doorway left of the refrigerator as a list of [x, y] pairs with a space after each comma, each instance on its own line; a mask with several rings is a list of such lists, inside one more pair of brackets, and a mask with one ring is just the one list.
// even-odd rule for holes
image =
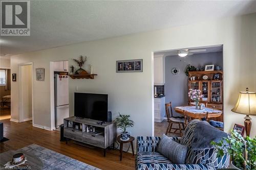
[[20, 66], [22, 79], [21, 92], [23, 96], [23, 119], [32, 118], [32, 65]]

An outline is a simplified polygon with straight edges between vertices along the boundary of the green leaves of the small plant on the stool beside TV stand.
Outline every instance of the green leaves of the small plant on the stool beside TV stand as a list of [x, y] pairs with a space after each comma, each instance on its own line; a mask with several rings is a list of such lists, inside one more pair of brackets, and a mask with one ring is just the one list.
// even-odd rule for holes
[[124, 115], [119, 113], [119, 117], [115, 119], [116, 126], [122, 130], [123, 133], [126, 132], [126, 128], [133, 127], [133, 120], [129, 119], [130, 115]]

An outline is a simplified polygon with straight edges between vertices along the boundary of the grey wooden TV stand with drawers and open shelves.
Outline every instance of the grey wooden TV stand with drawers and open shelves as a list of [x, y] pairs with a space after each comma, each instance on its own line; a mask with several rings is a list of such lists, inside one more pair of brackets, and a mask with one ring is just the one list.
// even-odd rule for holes
[[[114, 144], [116, 140], [116, 126], [114, 123], [109, 122], [98, 125], [98, 122], [100, 121], [75, 116], [65, 118], [64, 137], [67, 138], [66, 143], [68, 143], [68, 139], [73, 139], [82, 143], [94, 145], [95, 147], [103, 148], [105, 156], [106, 148]], [[90, 127], [94, 127], [95, 132], [87, 132], [87, 127], [89, 129]]]

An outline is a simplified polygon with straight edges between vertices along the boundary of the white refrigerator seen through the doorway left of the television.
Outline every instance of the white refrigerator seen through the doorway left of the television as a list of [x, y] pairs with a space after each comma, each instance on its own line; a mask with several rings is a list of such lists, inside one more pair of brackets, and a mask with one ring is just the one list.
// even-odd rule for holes
[[69, 77], [54, 75], [55, 127], [69, 117]]

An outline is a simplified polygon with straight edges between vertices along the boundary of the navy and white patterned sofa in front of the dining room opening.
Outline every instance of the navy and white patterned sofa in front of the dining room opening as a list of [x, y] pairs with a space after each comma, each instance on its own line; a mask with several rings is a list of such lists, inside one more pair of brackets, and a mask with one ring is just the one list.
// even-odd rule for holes
[[[217, 158], [216, 150], [213, 147], [196, 151], [192, 150], [194, 134], [196, 131], [196, 126], [199, 122], [200, 120], [198, 119], [192, 120], [186, 126], [182, 137], [171, 137], [174, 141], [187, 146], [185, 164], [173, 164], [169, 159], [158, 152], [158, 145], [161, 137], [138, 136], [135, 168], [139, 170], [215, 170], [220, 168], [227, 168], [229, 166], [230, 160], [230, 156], [228, 154]], [[210, 133], [208, 133], [208, 135], [209, 134]]]

